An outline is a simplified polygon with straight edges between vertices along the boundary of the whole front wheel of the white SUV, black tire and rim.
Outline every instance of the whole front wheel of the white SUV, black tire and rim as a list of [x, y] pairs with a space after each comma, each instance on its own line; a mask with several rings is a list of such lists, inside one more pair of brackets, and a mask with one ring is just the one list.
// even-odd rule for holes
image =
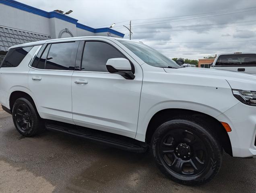
[[151, 150], [161, 172], [185, 185], [213, 179], [222, 163], [222, 148], [210, 127], [192, 117], [161, 124], [153, 134]]

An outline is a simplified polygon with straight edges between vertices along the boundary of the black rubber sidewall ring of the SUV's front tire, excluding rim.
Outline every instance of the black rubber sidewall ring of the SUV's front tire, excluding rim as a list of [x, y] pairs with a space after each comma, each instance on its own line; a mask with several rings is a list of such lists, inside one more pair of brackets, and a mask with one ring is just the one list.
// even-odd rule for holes
[[[196, 134], [206, 147], [208, 153], [208, 162], [206, 163], [204, 170], [194, 177], [185, 177], [179, 174], [175, 174], [175, 172], [169, 172], [169, 168], [160, 156], [159, 149], [162, 138], [170, 129], [175, 128], [186, 128], [186, 130]], [[192, 185], [205, 183], [217, 174], [221, 165], [221, 150], [217, 140], [215, 140], [212, 133], [210, 133], [208, 129], [205, 128], [205, 126], [202, 127], [201, 124], [184, 119], [174, 119], [160, 125], [153, 135], [151, 141], [151, 150], [160, 170], [165, 175], [167, 175], [167, 177], [170, 177], [174, 181], [183, 184]]]

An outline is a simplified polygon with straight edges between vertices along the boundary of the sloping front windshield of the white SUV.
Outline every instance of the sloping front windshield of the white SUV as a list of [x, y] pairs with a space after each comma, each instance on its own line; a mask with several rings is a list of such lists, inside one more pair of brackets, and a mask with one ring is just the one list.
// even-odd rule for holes
[[143, 43], [137, 43], [133, 41], [118, 40], [130, 51], [136, 54], [141, 60], [150, 66], [161, 67], [161, 68], [181, 68], [180, 65], [176, 64], [173, 60], [169, 59], [159, 51], [149, 47]]

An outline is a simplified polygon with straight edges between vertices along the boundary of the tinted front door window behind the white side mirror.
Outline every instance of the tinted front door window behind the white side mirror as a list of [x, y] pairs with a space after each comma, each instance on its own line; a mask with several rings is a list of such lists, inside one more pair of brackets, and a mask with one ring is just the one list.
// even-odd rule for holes
[[106, 63], [109, 58], [124, 57], [113, 46], [100, 41], [87, 41], [82, 60], [82, 71], [108, 72]]

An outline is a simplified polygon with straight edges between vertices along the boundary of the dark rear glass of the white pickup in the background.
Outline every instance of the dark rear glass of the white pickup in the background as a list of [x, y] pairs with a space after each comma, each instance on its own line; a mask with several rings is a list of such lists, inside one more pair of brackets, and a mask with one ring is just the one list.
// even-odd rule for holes
[[220, 55], [215, 65], [216, 66], [230, 66], [230, 65], [256, 66], [256, 54], [246, 53], [246, 54]]

